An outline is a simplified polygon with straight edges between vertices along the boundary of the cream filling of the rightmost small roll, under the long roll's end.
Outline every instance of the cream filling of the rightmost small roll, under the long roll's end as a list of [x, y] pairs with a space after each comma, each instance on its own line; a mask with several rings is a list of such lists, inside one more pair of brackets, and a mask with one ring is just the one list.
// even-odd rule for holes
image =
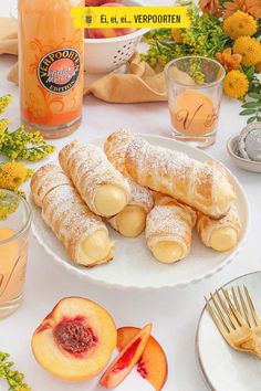
[[228, 251], [236, 246], [238, 242], [238, 235], [236, 231], [230, 228], [220, 228], [213, 230], [210, 239], [209, 245], [217, 251]]

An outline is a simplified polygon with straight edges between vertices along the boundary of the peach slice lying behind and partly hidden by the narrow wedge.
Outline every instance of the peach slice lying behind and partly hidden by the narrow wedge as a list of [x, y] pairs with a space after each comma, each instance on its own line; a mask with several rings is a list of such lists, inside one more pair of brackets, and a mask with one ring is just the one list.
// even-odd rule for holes
[[[119, 328], [117, 330], [118, 350], [122, 351], [139, 330], [140, 329], [137, 327]], [[156, 391], [163, 389], [168, 376], [168, 363], [163, 348], [153, 336], [149, 337], [146, 348], [138, 361], [137, 371], [155, 388]]]

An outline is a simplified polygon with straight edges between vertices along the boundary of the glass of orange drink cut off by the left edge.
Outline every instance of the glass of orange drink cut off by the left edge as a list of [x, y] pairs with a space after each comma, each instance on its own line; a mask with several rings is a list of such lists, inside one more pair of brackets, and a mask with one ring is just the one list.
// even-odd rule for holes
[[21, 196], [0, 189], [0, 318], [22, 303], [31, 215]]

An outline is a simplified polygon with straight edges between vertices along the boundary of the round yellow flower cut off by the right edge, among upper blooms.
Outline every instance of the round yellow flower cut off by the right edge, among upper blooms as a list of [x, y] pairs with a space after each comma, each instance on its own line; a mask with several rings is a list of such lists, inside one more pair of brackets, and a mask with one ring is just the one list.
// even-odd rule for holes
[[261, 44], [254, 38], [240, 36], [234, 41], [233, 52], [242, 55], [241, 64], [255, 65], [261, 61]]

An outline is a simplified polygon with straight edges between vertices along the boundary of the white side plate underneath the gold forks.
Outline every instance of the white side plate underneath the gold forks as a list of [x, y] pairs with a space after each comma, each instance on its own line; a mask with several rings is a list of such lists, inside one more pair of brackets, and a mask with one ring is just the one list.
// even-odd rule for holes
[[[261, 316], [261, 272], [236, 278], [225, 287], [243, 286], [243, 284], [248, 287]], [[198, 325], [196, 356], [211, 391], [260, 391], [261, 360], [230, 348], [219, 334], [206, 307]]]

